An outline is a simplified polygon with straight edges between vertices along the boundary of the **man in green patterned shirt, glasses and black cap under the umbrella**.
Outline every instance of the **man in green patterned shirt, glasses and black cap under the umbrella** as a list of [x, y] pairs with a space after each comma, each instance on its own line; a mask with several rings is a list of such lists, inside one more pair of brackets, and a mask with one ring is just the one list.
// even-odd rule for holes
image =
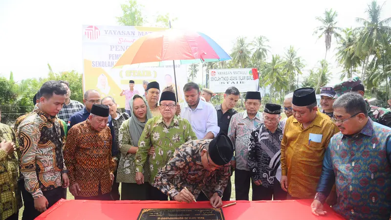
[[[172, 91], [164, 91], [160, 97], [159, 116], [149, 119], [138, 141], [138, 150], [135, 155], [136, 182], [143, 184], [148, 181], [154, 183], [154, 177], [167, 162], [174, 156], [174, 151], [190, 140], [196, 140], [195, 132], [189, 121], [175, 115], [176, 97]], [[148, 158], [151, 147], [154, 152]], [[143, 166], [149, 159], [151, 179], [144, 179]], [[167, 194], [155, 187], [151, 187], [151, 200], [168, 200]]]

